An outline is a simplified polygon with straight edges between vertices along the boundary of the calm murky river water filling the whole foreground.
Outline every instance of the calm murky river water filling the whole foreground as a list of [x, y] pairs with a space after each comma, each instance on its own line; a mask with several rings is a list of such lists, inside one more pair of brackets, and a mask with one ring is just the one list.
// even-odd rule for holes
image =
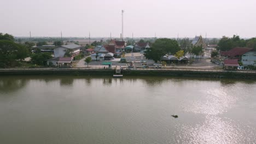
[[4, 144], [256, 143], [255, 114], [251, 80], [0, 77]]

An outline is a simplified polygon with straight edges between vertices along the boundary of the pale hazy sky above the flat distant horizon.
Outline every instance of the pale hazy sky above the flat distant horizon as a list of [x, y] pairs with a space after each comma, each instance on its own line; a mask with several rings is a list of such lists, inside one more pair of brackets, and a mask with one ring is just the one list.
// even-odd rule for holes
[[14, 36], [256, 37], [256, 0], [0, 0], [0, 32]]

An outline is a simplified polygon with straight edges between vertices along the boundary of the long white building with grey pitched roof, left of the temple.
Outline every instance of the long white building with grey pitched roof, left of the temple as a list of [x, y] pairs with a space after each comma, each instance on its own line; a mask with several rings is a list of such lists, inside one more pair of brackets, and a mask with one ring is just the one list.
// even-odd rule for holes
[[71, 50], [71, 58], [73, 59], [74, 56], [79, 55], [80, 53], [80, 45], [76, 44], [69, 44], [69, 45], [62, 45], [59, 47], [54, 48], [54, 57], [63, 57], [65, 52], [70, 49]]

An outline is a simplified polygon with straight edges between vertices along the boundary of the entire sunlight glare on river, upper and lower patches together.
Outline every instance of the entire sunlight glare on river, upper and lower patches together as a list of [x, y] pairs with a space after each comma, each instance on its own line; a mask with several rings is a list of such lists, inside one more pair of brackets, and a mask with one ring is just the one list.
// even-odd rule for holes
[[[234, 91], [236, 89], [236, 91]], [[240, 93], [240, 90], [242, 90]], [[191, 125], [176, 125], [182, 133], [177, 135], [177, 143], [255, 143], [255, 128], [230, 118], [221, 117], [236, 106], [246, 95], [243, 87], [208, 88], [198, 92], [193, 100], [182, 105], [184, 111], [205, 115], [205, 122]], [[235, 93], [235, 94], [234, 94]], [[246, 96], [244, 96], [246, 97]]]

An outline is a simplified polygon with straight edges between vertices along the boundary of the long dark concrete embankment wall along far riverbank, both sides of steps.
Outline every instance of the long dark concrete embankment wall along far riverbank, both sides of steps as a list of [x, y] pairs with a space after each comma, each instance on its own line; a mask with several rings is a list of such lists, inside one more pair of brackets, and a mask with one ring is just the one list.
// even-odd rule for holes
[[[241, 71], [205, 70], [123, 70], [124, 76], [184, 76], [233, 79], [255, 79], [256, 73]], [[2, 69], [0, 75], [106, 75], [113, 76], [114, 70], [92, 69]]]

